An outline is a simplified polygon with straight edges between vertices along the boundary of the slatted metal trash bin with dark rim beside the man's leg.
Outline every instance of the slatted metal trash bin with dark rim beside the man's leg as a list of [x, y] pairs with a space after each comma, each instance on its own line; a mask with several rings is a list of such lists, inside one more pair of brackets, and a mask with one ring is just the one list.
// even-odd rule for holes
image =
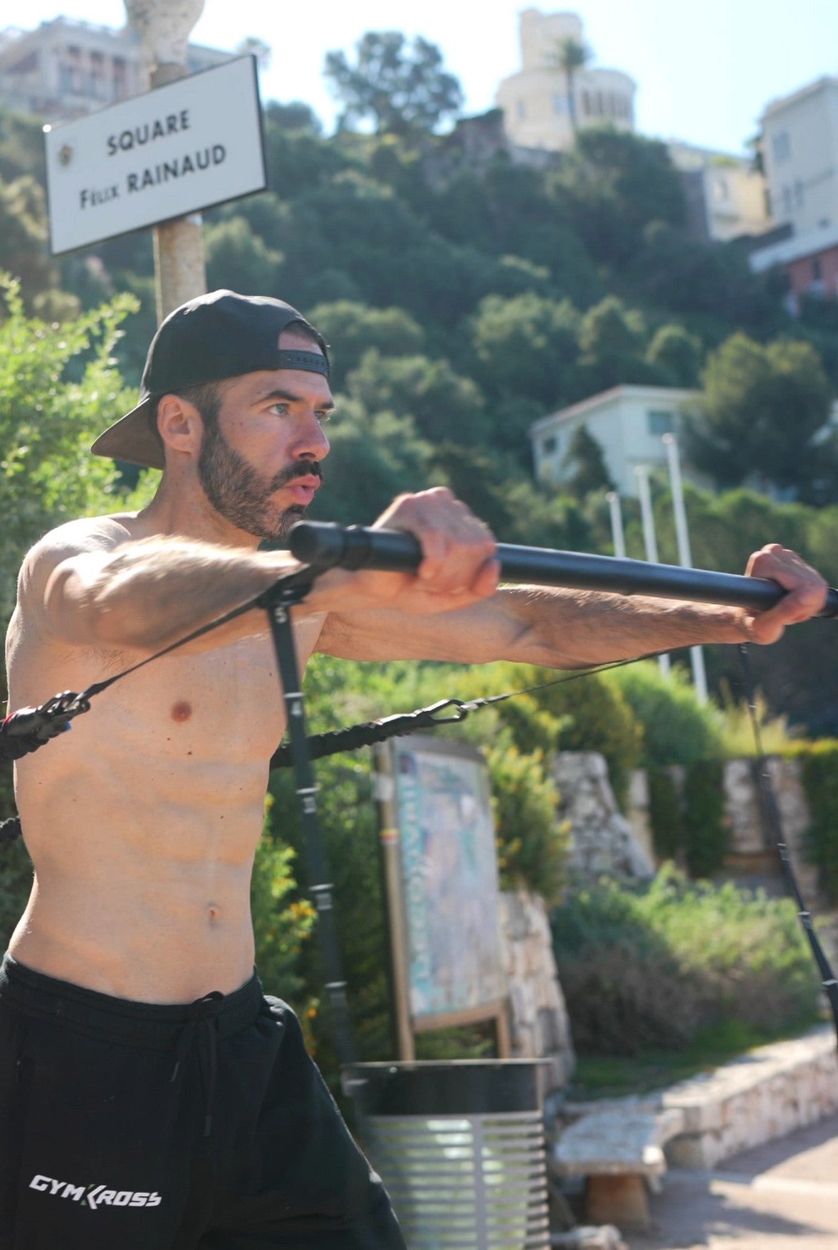
[[363, 1146], [410, 1250], [547, 1250], [545, 1065], [355, 1064]]

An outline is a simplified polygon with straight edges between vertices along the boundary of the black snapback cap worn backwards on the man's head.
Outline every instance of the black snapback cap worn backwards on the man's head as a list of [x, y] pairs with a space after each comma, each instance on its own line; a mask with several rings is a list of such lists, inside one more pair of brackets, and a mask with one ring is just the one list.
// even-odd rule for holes
[[[294, 324], [315, 335], [323, 355], [280, 350], [280, 334]], [[161, 322], [145, 360], [139, 404], [100, 434], [90, 450], [98, 456], [163, 469], [163, 449], [149, 419], [150, 398], [176, 395], [186, 386], [263, 369], [303, 369], [328, 378], [323, 335], [283, 300], [224, 290], [199, 295]]]

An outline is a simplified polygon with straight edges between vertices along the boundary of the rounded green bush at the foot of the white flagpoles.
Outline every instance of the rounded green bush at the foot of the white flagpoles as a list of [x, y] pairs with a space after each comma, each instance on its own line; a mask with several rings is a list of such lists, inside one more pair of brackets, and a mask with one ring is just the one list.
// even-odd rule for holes
[[683, 669], [664, 676], [657, 660], [614, 669], [605, 678], [643, 725], [643, 764], [692, 764], [722, 758], [722, 719], [700, 704]]

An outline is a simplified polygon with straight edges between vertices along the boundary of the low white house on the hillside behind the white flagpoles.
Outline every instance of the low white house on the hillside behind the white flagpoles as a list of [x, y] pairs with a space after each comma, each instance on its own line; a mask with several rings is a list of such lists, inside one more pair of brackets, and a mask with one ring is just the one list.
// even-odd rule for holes
[[[563, 408], [534, 421], [529, 430], [533, 464], [539, 481], [559, 485], [573, 475], [563, 461], [573, 435], [580, 425], [603, 449], [608, 476], [620, 495], [637, 498], [639, 465], [665, 468], [664, 434], [678, 435], [684, 411], [695, 402], [698, 391], [673, 386], [613, 386], [579, 404]], [[682, 448], [683, 454], [683, 448]], [[698, 485], [708, 481], [684, 462], [684, 476]]]

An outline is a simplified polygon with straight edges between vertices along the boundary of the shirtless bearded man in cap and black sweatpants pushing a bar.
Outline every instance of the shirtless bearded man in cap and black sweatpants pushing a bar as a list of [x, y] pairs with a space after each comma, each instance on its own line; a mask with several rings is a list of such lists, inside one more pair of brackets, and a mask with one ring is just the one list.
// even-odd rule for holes
[[[216, 291], [158, 331], [141, 401], [94, 444], [164, 469], [138, 514], [80, 520], [24, 561], [10, 708], [80, 690], [245, 602], [294, 561], [258, 551], [320, 486], [321, 338]], [[300, 659], [573, 668], [694, 642], [770, 642], [825, 585], [769, 546], [789, 594], [739, 610], [497, 589], [494, 542], [445, 490], [401, 496], [416, 576], [333, 570], [295, 610]], [[253, 972], [250, 871], [283, 734], [265, 614], [103, 694], [18, 765], [35, 882], [0, 972], [0, 1250], [390, 1250], [386, 1196], [294, 1014]]]

